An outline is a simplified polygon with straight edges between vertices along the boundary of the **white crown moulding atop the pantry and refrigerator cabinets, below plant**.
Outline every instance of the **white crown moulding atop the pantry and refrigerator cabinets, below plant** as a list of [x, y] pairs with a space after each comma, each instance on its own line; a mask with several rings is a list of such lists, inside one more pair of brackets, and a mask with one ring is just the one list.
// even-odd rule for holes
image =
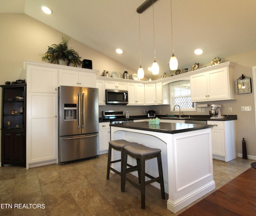
[[78, 68], [73, 66], [66, 66], [66, 65], [60, 65], [60, 64], [51, 64], [51, 63], [45, 63], [45, 62], [33, 62], [33, 61], [26, 61], [23, 62], [23, 68], [26, 71], [27, 65], [35, 65], [35, 66], [42, 66], [42, 67], [48, 67], [48, 68], [56, 68], [56, 69], [65, 69], [65, 70], [72, 70], [77, 72], [90, 72], [90, 73], [98, 73], [98, 70], [91, 70], [87, 68]]

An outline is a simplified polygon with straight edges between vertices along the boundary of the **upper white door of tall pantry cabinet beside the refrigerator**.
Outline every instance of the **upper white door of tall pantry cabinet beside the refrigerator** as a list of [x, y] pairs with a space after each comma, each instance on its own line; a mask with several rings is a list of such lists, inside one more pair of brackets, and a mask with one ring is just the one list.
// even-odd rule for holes
[[58, 70], [43, 66], [27, 65], [27, 91], [57, 93]]

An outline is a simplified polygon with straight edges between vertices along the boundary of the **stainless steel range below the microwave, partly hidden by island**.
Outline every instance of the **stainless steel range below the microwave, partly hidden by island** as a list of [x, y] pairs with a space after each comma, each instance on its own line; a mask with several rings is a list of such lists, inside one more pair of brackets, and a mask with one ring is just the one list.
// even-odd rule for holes
[[132, 118], [125, 118], [125, 114], [123, 110], [114, 111], [114, 110], [107, 110], [103, 112], [103, 120], [110, 120], [110, 124], [120, 124], [120, 123], [127, 123], [133, 122]]

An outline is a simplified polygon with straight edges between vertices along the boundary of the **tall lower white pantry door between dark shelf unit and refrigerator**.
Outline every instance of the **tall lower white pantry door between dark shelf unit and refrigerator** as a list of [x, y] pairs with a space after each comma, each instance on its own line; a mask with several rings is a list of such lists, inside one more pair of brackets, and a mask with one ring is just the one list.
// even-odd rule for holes
[[28, 93], [27, 104], [28, 168], [30, 163], [57, 159], [58, 95]]

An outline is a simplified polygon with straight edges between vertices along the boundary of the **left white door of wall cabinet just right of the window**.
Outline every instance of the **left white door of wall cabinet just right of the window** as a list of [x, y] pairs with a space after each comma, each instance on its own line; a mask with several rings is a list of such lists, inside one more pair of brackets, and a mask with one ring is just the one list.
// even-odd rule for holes
[[207, 101], [207, 73], [190, 76], [191, 102]]

